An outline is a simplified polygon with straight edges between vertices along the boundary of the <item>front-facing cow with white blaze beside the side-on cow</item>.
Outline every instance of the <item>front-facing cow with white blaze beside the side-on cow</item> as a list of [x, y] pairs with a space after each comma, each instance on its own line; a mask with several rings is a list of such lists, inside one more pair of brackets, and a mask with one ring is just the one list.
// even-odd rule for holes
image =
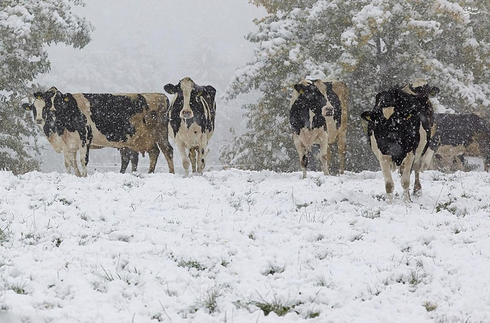
[[202, 174], [207, 145], [214, 132], [216, 89], [211, 85], [197, 85], [185, 77], [176, 85], [168, 83], [164, 90], [174, 95], [168, 112], [169, 134], [181, 154], [184, 174], [189, 175], [189, 165], [193, 173]]

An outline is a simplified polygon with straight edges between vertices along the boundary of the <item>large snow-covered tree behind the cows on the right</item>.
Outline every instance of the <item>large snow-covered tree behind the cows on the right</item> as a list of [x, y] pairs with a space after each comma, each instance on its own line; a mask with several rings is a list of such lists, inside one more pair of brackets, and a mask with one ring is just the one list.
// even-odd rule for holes
[[225, 163], [298, 169], [288, 103], [292, 85], [307, 77], [349, 86], [350, 170], [377, 167], [359, 116], [379, 90], [422, 77], [441, 89], [436, 105], [456, 112], [490, 106], [490, 40], [479, 17], [465, 11], [470, 6], [483, 12], [486, 0], [464, 7], [447, 0], [251, 2], [269, 15], [247, 36], [258, 44], [255, 59], [237, 69], [226, 97], [252, 90], [261, 97], [245, 106], [248, 131], [223, 149]]

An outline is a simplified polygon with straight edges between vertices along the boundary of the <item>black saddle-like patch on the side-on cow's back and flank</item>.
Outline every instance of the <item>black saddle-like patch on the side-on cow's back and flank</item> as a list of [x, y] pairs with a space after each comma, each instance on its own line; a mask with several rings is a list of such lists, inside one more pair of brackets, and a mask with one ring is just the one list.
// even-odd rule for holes
[[135, 114], [149, 109], [143, 95], [132, 99], [126, 95], [92, 94], [83, 96], [90, 102], [90, 117], [109, 142], [127, 142], [136, 133], [131, 123]]

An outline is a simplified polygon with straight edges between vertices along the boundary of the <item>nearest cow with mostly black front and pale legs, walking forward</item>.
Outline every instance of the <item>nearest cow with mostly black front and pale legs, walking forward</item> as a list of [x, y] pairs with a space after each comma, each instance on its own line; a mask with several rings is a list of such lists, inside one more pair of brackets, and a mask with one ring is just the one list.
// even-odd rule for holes
[[391, 177], [393, 164], [402, 166], [401, 184], [405, 200], [410, 200], [412, 168], [415, 172], [414, 194], [421, 190], [421, 158], [428, 149], [433, 128], [434, 110], [428, 96], [436, 95], [439, 89], [427, 85], [419, 90], [418, 93], [410, 93], [406, 86], [393, 86], [376, 95], [372, 111], [361, 114], [361, 118], [367, 121], [368, 140], [379, 160], [389, 200], [394, 189]]

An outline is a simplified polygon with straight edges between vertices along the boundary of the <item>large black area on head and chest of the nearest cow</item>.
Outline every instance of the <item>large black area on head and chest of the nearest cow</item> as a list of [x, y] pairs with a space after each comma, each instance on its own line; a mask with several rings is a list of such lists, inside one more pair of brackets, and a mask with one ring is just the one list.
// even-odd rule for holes
[[[386, 119], [383, 109], [394, 107], [393, 114]], [[422, 106], [419, 99], [402, 91], [400, 87], [376, 95], [374, 109], [361, 114], [368, 121], [369, 138], [374, 133], [377, 146], [381, 153], [391, 156], [393, 162], [400, 166], [410, 151], [416, 151], [420, 142], [419, 128], [422, 124], [430, 140], [430, 109]], [[424, 147], [426, 151], [428, 144]]]

